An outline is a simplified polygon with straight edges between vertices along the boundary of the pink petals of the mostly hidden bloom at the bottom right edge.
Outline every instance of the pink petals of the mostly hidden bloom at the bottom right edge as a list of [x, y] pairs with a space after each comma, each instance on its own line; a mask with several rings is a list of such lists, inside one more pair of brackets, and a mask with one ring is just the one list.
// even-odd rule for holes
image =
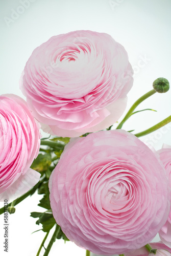
[[[149, 251], [145, 248], [145, 247], [141, 247], [139, 249], [136, 249], [134, 251], [130, 251], [128, 253], [125, 253], [125, 256], [170, 256], [170, 252], [171, 249], [169, 247], [167, 247], [165, 244], [163, 244], [161, 241], [158, 243], [150, 243], [150, 246], [152, 247], [152, 249], [158, 249], [156, 251], [156, 254], [149, 254]], [[157, 254], [158, 253], [158, 254]], [[159, 254], [159, 253], [163, 253], [163, 254]], [[164, 254], [165, 253], [165, 254]]]

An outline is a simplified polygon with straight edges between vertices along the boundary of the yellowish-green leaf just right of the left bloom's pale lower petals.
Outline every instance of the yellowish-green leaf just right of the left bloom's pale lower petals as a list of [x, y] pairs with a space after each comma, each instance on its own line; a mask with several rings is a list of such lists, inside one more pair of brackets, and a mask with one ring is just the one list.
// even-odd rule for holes
[[51, 163], [52, 157], [50, 154], [39, 154], [38, 157], [33, 161], [31, 168], [37, 170], [38, 172], [42, 172], [43, 170], [47, 170]]

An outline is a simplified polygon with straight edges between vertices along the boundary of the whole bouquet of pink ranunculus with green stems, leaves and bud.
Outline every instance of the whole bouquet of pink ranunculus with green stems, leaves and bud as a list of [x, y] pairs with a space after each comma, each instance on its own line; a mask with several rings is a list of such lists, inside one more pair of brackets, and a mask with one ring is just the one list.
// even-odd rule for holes
[[[157, 78], [118, 123], [133, 85], [127, 52], [106, 33], [82, 30], [37, 47], [19, 83], [26, 101], [0, 96], [4, 251], [8, 214], [38, 193], [44, 211], [31, 217], [45, 236], [37, 256], [51, 254], [58, 239], [85, 248], [87, 256], [171, 255], [171, 147], [156, 152], [139, 139], [171, 116], [140, 133], [123, 130], [133, 114], [152, 111], [136, 108], [167, 92], [167, 79]], [[161, 241], [153, 243], [157, 233]]]

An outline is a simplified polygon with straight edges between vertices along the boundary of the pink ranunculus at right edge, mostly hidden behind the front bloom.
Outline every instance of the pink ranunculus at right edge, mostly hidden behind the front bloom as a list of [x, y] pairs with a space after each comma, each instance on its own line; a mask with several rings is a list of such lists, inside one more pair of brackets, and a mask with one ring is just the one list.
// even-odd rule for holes
[[[164, 147], [159, 150], [158, 153], [160, 154], [160, 159], [164, 164], [166, 172], [168, 173], [169, 186], [171, 188], [171, 147], [164, 145]], [[159, 236], [162, 242], [171, 248], [171, 210], [166, 223], [159, 231]]]

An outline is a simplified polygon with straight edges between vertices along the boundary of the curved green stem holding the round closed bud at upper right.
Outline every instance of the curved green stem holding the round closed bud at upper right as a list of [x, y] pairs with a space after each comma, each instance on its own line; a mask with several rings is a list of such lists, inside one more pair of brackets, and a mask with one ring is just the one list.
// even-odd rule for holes
[[116, 127], [116, 129], [121, 129], [121, 127], [123, 126], [123, 124], [127, 121], [127, 119], [132, 115], [133, 111], [136, 109], [136, 107], [145, 99], [149, 98], [150, 96], [152, 96], [153, 94], [155, 94], [156, 91], [153, 89], [148, 93], [145, 93], [143, 96], [141, 96], [139, 99], [137, 99], [135, 101], [135, 103], [131, 106], [130, 110], [128, 111], [128, 113], [126, 114], [126, 116], [124, 117], [124, 119], [119, 123], [119, 125]]

